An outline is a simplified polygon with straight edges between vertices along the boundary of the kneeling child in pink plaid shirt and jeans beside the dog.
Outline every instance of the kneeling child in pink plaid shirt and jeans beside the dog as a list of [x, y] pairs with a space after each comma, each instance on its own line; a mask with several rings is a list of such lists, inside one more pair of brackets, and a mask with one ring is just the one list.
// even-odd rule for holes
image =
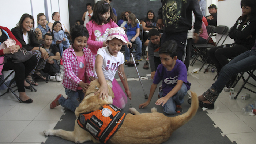
[[71, 29], [71, 47], [63, 51], [63, 86], [67, 99], [61, 94], [50, 104], [50, 108], [61, 105], [72, 112], [82, 102], [84, 93], [93, 81], [93, 57], [90, 49], [86, 48], [89, 37], [87, 29], [82, 25], [75, 25]]

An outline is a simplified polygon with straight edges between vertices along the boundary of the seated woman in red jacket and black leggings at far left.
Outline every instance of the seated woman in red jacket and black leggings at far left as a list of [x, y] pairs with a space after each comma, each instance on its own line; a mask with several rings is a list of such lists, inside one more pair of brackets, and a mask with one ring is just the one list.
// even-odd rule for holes
[[[16, 45], [10, 46], [10, 48], [1, 49], [0, 55], [16, 53], [22, 47], [20, 42], [15, 38], [12, 32], [7, 27], [0, 26], [0, 44], [3, 43], [6, 39], [14, 39], [16, 41]], [[14, 70], [15, 71], [15, 81], [18, 87], [19, 98], [23, 103], [32, 103], [33, 100], [27, 96], [24, 87], [28, 89], [32, 89], [29, 83], [25, 81], [25, 77], [29, 75], [29, 72], [37, 65], [37, 58], [33, 55], [29, 60], [23, 63], [13, 63], [11, 60], [6, 60], [3, 70]]]

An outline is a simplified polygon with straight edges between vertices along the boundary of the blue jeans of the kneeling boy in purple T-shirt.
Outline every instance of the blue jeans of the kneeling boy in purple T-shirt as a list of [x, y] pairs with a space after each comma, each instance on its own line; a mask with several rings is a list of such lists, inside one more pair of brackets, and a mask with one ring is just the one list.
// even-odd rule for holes
[[[175, 108], [176, 104], [181, 105], [184, 102], [184, 97], [187, 94], [187, 86], [185, 84], [182, 84], [181, 89], [172, 96], [164, 105], [163, 105], [163, 112], [165, 112], [168, 115], [174, 115], [176, 113]], [[163, 91], [159, 93], [160, 97], [163, 96]]]

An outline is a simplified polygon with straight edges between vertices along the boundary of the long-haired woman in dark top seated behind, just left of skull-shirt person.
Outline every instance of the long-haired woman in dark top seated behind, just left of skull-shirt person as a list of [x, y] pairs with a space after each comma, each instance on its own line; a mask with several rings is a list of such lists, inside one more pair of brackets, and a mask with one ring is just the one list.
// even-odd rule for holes
[[153, 27], [157, 26], [157, 16], [152, 10], [147, 12], [147, 17], [141, 23], [143, 28], [143, 40], [146, 41], [148, 39], [148, 32]]

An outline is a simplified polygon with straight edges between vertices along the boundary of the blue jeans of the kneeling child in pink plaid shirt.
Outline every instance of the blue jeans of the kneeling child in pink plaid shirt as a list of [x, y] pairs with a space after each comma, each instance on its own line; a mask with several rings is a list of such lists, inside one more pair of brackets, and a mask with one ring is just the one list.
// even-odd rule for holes
[[63, 96], [59, 99], [59, 104], [72, 112], [75, 112], [78, 105], [84, 99], [84, 93], [82, 90], [72, 91], [70, 89], [65, 88], [66, 95], [68, 99], [65, 99]]

